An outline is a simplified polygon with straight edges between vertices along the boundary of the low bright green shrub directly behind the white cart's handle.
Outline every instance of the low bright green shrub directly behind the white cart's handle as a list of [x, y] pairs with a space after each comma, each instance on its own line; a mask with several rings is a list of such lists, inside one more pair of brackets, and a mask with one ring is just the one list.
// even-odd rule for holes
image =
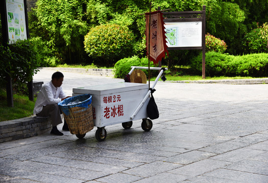
[[[124, 78], [125, 75], [127, 75], [129, 71], [131, 70], [131, 66], [148, 67], [148, 58], [139, 58], [137, 56], [133, 56], [131, 58], [120, 59], [114, 65], [114, 77]], [[153, 62], [150, 62], [150, 67], [155, 67]], [[142, 71], [148, 77], [148, 70], [142, 70]], [[156, 74], [156, 71], [150, 70], [150, 75], [155, 75], [155, 74]]]

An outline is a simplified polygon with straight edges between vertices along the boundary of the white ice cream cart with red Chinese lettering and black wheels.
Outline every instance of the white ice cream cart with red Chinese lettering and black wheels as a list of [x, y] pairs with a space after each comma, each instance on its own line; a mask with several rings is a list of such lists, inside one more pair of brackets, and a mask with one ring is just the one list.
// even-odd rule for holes
[[[131, 74], [135, 69], [149, 69], [148, 67], [131, 67]], [[152, 84], [154, 89], [160, 76], [167, 68], [150, 68], [159, 70], [159, 74]], [[150, 131], [153, 127], [151, 119], [148, 119], [147, 104], [149, 102], [149, 84], [118, 82], [95, 86], [83, 86], [72, 89], [72, 96], [90, 94], [92, 96], [92, 112], [94, 127], [98, 129], [95, 137], [98, 141], [105, 140], [106, 126], [121, 123], [123, 128], [129, 129], [132, 121], [142, 119], [141, 128]]]

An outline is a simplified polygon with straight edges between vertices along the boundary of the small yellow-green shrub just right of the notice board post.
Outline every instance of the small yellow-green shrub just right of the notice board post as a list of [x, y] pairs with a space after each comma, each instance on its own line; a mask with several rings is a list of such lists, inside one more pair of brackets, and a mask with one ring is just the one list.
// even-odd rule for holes
[[226, 49], [227, 49], [227, 45], [223, 40], [219, 38], [215, 38], [209, 33], [206, 34], [206, 52], [215, 51], [215, 52], [224, 53]]

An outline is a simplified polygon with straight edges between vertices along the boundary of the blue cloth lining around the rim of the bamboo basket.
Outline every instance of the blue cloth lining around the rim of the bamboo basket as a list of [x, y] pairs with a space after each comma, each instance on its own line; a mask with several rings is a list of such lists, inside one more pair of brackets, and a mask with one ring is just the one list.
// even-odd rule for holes
[[[74, 105], [68, 105], [68, 103], [74, 102], [76, 100], [79, 100], [79, 102], [81, 102], [81, 103], [74, 104]], [[67, 99], [64, 99], [63, 101], [58, 103], [58, 106], [60, 107], [62, 112], [64, 112], [64, 114], [69, 115], [69, 108], [72, 108], [72, 107], [88, 108], [88, 105], [90, 105], [91, 102], [92, 102], [92, 96], [90, 94], [83, 94], [83, 95], [69, 97]]]

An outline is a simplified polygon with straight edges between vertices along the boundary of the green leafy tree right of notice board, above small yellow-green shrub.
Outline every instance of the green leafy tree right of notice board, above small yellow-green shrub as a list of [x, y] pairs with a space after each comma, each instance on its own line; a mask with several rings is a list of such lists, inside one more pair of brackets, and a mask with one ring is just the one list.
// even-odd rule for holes
[[206, 32], [224, 40], [227, 52], [239, 54], [241, 39], [246, 33], [245, 12], [235, 3], [219, 0], [207, 0], [206, 5]]

